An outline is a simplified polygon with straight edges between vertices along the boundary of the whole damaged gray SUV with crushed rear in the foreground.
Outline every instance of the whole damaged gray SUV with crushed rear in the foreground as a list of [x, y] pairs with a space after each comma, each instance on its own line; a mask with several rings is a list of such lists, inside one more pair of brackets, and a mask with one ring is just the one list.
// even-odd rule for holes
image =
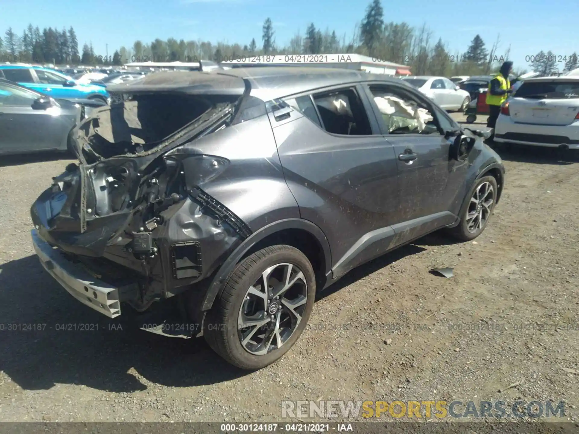
[[32, 205], [39, 259], [111, 318], [177, 300], [181, 334], [243, 369], [283, 356], [354, 267], [438, 229], [477, 237], [503, 190], [485, 133], [386, 76], [159, 72], [110, 90]]

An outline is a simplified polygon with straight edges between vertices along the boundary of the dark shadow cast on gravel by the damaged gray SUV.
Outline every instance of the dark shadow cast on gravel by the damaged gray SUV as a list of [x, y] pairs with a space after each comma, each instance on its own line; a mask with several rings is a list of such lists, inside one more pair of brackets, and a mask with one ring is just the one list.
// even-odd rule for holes
[[[318, 299], [426, 249], [408, 244], [351, 270]], [[210, 350], [203, 338], [179, 339], [140, 330], [125, 309], [109, 319], [80, 304], [50, 277], [35, 255], [0, 265], [0, 370], [28, 390], [57, 383], [109, 392], [143, 391], [146, 381], [170, 387], [215, 384], [251, 372]]]

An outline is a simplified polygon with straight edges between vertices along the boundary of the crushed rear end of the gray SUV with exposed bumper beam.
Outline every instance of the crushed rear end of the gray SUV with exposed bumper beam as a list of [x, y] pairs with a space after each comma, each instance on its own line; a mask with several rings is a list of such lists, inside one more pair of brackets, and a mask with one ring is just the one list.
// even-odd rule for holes
[[42, 265], [108, 317], [120, 315], [120, 303], [145, 311], [190, 288], [250, 234], [202, 189], [229, 161], [191, 145], [230, 126], [247, 83], [194, 74], [111, 89], [111, 106], [78, 127], [79, 163], [31, 207]]

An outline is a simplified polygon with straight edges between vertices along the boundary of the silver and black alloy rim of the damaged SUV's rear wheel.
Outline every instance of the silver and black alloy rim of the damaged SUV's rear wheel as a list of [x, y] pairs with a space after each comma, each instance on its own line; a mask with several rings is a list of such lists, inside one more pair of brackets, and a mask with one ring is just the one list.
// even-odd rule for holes
[[294, 264], [280, 263], [263, 271], [247, 289], [237, 315], [243, 348], [264, 355], [290, 339], [302, 321], [307, 290], [306, 278]]

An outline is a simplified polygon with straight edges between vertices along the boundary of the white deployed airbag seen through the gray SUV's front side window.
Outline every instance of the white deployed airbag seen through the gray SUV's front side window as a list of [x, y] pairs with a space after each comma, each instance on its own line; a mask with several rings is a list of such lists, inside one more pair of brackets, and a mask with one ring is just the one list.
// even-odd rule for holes
[[426, 109], [417, 108], [396, 97], [375, 97], [374, 101], [386, 123], [388, 130], [408, 127], [410, 130], [422, 132], [426, 123], [434, 118]]

